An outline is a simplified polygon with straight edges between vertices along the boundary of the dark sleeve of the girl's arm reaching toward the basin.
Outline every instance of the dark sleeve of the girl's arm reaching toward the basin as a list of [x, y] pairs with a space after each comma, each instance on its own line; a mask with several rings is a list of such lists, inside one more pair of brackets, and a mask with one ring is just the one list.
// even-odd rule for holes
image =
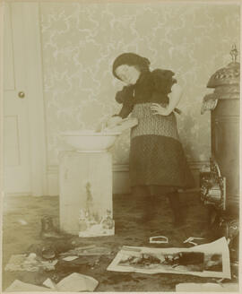
[[122, 91], [117, 91], [116, 100], [117, 103], [122, 103], [123, 107], [121, 108], [118, 116], [125, 118], [127, 117], [134, 108], [134, 86], [125, 86]]

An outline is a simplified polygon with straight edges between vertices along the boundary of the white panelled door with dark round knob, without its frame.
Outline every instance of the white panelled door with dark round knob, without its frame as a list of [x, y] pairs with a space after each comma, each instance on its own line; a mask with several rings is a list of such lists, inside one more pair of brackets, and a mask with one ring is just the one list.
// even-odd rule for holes
[[[30, 194], [30, 134], [22, 4], [4, 10], [4, 192]], [[23, 91], [24, 98], [19, 97]]]

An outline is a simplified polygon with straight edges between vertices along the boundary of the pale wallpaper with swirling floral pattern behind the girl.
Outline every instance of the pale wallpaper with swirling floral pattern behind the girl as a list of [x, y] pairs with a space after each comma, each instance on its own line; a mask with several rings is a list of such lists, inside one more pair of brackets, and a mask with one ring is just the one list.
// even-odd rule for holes
[[[58, 163], [61, 132], [95, 128], [117, 113], [113, 60], [135, 52], [151, 69], [171, 69], [184, 89], [178, 131], [188, 160], [210, 157], [210, 114], [200, 114], [206, 84], [239, 47], [238, 4], [40, 3], [48, 165]], [[239, 50], [239, 48], [238, 48]], [[129, 132], [112, 149], [128, 163]]]

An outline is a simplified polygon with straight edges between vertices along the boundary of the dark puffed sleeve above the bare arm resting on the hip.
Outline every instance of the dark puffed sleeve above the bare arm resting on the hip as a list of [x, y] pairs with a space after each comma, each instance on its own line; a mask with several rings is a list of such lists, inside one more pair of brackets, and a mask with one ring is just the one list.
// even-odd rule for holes
[[155, 69], [151, 75], [155, 90], [166, 95], [171, 92], [172, 85], [177, 82], [173, 78], [175, 73], [169, 70]]

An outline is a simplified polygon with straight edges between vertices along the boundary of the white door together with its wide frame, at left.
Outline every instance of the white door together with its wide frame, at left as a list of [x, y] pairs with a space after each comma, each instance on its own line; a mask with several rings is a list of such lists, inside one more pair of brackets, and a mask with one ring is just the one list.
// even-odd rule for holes
[[4, 2], [4, 194], [48, 195], [38, 2]]

